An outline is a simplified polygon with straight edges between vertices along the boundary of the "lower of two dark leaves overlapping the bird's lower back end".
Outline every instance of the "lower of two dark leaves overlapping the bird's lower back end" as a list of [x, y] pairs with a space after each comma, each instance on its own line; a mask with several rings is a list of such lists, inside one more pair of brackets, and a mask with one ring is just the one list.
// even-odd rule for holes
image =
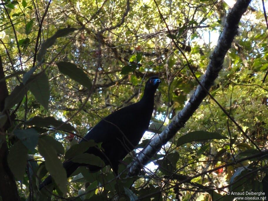
[[71, 159], [71, 161], [75, 163], [85, 163], [89, 165], [96, 165], [98, 167], [104, 167], [105, 163], [103, 160], [100, 159], [100, 157], [95, 156], [94, 154], [89, 153], [83, 153], [80, 155], [77, 155]]

